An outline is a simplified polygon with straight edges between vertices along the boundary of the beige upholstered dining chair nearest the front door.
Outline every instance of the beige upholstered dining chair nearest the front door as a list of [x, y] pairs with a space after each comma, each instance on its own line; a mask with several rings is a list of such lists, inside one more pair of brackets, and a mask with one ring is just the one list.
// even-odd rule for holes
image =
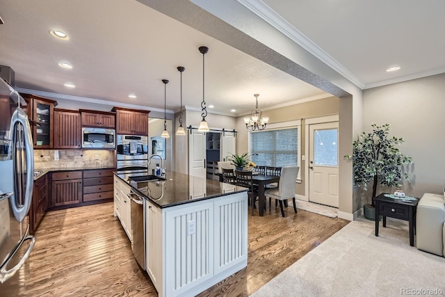
[[264, 197], [275, 198], [280, 202], [281, 214], [284, 217], [283, 200], [292, 198], [293, 210], [297, 213], [297, 205], [295, 202], [295, 182], [298, 175], [298, 166], [289, 166], [282, 168], [280, 182], [277, 188], [268, 188], [264, 192]]

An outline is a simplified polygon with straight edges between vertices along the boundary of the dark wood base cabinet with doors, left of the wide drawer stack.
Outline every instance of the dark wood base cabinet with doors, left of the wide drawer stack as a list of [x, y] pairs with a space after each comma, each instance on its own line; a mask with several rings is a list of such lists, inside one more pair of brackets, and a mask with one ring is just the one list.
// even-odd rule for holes
[[81, 203], [82, 189], [82, 171], [54, 172], [51, 207]]

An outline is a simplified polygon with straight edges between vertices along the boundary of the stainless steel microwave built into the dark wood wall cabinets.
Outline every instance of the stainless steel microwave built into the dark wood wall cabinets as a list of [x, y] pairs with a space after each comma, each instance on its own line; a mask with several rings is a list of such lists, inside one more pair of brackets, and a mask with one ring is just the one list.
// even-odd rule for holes
[[82, 128], [82, 147], [98, 149], [114, 149], [115, 129]]

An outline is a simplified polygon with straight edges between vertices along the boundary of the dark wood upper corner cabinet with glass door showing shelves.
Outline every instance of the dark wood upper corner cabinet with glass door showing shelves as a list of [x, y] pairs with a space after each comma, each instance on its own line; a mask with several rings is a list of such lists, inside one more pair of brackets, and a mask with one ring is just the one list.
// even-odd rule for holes
[[34, 148], [53, 148], [54, 106], [57, 102], [51, 99], [24, 94], [22, 97], [28, 103], [28, 117], [33, 130]]

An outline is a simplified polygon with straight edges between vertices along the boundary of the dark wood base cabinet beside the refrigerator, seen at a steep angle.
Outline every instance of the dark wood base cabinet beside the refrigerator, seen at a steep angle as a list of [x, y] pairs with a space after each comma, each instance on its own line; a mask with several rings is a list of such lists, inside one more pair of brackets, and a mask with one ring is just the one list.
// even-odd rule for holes
[[47, 212], [48, 199], [48, 177], [43, 175], [34, 182], [33, 202], [29, 209], [29, 230], [35, 234], [37, 228]]

